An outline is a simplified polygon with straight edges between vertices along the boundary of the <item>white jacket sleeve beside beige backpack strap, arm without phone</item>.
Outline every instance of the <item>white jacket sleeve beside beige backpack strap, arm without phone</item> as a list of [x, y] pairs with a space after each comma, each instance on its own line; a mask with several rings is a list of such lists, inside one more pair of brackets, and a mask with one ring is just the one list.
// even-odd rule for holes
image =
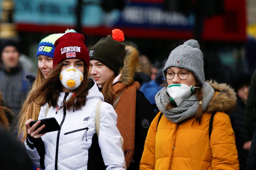
[[117, 114], [110, 104], [103, 102], [100, 112], [99, 147], [106, 170], [125, 169], [125, 156], [122, 151], [120, 137], [117, 129]]

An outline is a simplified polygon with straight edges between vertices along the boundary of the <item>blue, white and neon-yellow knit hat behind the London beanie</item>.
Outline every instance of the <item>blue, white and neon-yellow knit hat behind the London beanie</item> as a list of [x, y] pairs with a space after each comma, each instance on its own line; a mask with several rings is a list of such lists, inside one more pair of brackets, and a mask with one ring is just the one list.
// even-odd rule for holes
[[65, 33], [51, 34], [45, 37], [44, 39], [42, 39], [37, 47], [37, 57], [38, 55], [45, 55], [53, 58], [53, 54], [55, 50], [55, 47], [54, 47], [55, 41], [66, 33], [76, 33], [76, 31], [73, 29], [67, 29]]

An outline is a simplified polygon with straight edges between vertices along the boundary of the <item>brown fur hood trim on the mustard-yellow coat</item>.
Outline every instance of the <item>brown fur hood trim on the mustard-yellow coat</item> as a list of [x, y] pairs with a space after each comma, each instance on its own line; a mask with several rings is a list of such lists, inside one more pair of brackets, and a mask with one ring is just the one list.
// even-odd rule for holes
[[206, 112], [225, 112], [229, 114], [237, 105], [237, 95], [233, 88], [226, 83], [218, 84], [216, 81], [210, 80], [206, 83], [219, 92], [215, 94], [208, 104]]

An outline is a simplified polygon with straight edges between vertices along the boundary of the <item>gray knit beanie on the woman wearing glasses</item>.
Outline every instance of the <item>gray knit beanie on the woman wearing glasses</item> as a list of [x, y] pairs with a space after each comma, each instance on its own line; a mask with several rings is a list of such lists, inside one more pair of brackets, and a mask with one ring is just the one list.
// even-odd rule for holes
[[163, 77], [166, 81], [166, 70], [170, 67], [185, 68], [192, 71], [200, 84], [205, 82], [203, 71], [203, 54], [198, 42], [194, 39], [186, 41], [183, 45], [176, 47], [168, 57], [163, 68]]

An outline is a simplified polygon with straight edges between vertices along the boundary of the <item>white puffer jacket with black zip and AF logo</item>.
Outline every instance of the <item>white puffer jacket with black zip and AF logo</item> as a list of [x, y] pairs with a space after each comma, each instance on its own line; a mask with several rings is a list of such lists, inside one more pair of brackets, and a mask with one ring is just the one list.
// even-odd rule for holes
[[[73, 93], [61, 92], [60, 107]], [[90, 88], [85, 106], [81, 110], [58, 110], [51, 107], [46, 118], [54, 117], [61, 130], [48, 132], [41, 137], [41, 144], [25, 140], [27, 153], [34, 165], [52, 169], [111, 169], [125, 168], [125, 159], [116, 127], [117, 114], [114, 108], [103, 102], [100, 110], [99, 138], [95, 132], [95, 107], [103, 99], [96, 83]], [[41, 108], [38, 119], [45, 118], [46, 106]], [[43, 141], [43, 142], [42, 142]], [[43, 147], [44, 145], [44, 147]], [[43, 151], [45, 150], [45, 152]], [[45, 154], [44, 154], [45, 153]], [[105, 164], [105, 165], [104, 165]]]

